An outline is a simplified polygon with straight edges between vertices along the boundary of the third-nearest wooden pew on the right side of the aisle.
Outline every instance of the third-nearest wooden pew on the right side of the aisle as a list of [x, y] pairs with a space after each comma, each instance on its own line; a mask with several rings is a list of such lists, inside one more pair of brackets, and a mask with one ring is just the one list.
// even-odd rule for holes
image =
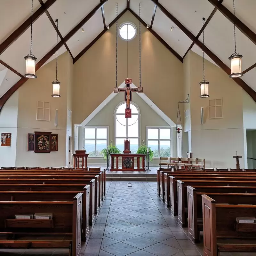
[[[229, 178], [230, 179], [230, 178]], [[241, 187], [256, 187], [256, 180], [252, 181], [234, 181], [234, 180], [178, 180], [177, 182], [173, 181], [170, 177], [170, 180], [176, 183], [178, 188], [176, 191], [173, 190], [173, 195], [171, 192], [171, 211], [172, 203], [175, 206], [176, 203], [177, 213], [178, 213], [178, 224], [182, 227], [187, 227], [187, 216], [185, 209], [188, 208], [188, 196], [187, 196], [187, 186], [241, 186]], [[170, 181], [171, 182], [171, 181]], [[177, 196], [177, 201], [174, 201], [174, 197]]]

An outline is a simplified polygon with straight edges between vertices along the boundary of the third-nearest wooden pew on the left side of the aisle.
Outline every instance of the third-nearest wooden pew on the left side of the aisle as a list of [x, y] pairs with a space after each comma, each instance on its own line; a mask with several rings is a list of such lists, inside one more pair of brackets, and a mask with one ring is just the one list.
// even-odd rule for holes
[[[84, 191], [82, 184], [0, 184], [0, 191]], [[95, 180], [90, 181], [90, 225], [95, 218]], [[88, 210], [87, 210], [88, 211]]]

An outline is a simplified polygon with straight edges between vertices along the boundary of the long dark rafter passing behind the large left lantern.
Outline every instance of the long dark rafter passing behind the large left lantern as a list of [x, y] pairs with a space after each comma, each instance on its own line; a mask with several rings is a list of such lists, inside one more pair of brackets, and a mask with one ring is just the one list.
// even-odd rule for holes
[[[50, 1], [50, 0], [48, 0], [48, 1]], [[48, 1], [47, 1], [47, 2], [48, 2]], [[52, 1], [54, 1], [54, 0], [52, 0]], [[80, 29], [80, 28], [93, 16], [93, 14], [94, 14], [95, 12], [97, 12], [97, 11], [101, 8], [101, 6], [102, 6], [103, 4], [105, 4], [107, 1], [108, 1], [108, 0], [102, 0], [102, 2], [100, 2], [91, 12], [89, 12], [89, 13], [86, 15], [86, 17], [84, 17], [84, 19], [81, 20], [81, 21], [63, 38], [63, 41], [60, 41], [57, 45], [55, 45], [55, 46], [52, 48], [52, 50], [50, 50], [48, 53], [46, 53], [46, 55], [45, 55], [41, 60], [39, 60], [39, 61], [36, 63], [36, 71], [37, 71], [39, 68], [41, 68], [41, 67], [44, 65], [44, 63], [45, 63], [47, 60], [49, 60], [49, 59], [52, 57], [52, 55], [53, 55], [57, 50], [60, 49], [60, 47], [61, 47], [62, 45], [64, 45], [64, 42], [67, 42], [68, 39], [70, 39], [71, 36], [73, 36], [73, 35], [76, 33], [76, 31], [77, 31], [78, 29]], [[54, 2], [55, 2], [55, 1], [54, 1]], [[40, 8], [41, 8], [41, 7], [40, 7]], [[40, 9], [40, 8], [39, 8], [39, 9]], [[43, 7], [42, 7], [42, 9], [44, 10]], [[1, 110], [3, 109], [3, 106], [4, 106], [5, 102], [6, 102], [6, 101], [12, 96], [12, 94], [13, 94], [14, 92], [16, 92], [16, 91], [20, 88], [20, 86], [21, 86], [22, 84], [24, 84], [27, 80], [28, 80], [28, 78], [22, 77], [16, 84], [14, 84], [14, 85], [12, 86], [12, 88], [10, 88], [10, 89], [0, 98], [0, 112], [1, 112]]]

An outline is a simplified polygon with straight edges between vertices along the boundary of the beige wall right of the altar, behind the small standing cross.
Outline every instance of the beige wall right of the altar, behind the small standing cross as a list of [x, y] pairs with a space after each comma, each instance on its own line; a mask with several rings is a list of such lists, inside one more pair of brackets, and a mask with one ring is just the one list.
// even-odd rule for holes
[[[189, 62], [189, 65], [186, 62]], [[205, 158], [207, 167], [235, 168], [233, 155], [242, 155], [240, 167], [246, 166], [246, 136], [243, 126], [243, 90], [226, 73], [205, 61], [205, 78], [210, 82], [210, 98], [199, 98], [202, 57], [190, 51], [184, 68], [189, 67], [191, 150], [194, 157]], [[186, 76], [187, 76], [186, 75]], [[188, 81], [186, 80], [186, 81]], [[209, 119], [209, 100], [223, 100], [223, 118]], [[204, 122], [200, 111], [204, 107]]]

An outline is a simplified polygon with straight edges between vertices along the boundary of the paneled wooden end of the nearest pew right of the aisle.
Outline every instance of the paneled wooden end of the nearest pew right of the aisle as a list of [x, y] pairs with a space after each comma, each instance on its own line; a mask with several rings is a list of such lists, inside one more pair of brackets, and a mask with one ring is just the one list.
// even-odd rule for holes
[[202, 195], [204, 256], [217, 256], [215, 200]]

